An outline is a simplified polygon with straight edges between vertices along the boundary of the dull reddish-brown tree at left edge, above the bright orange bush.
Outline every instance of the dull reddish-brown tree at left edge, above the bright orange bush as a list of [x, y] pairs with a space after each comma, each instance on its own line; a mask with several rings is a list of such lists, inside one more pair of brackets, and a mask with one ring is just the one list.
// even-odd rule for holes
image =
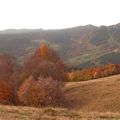
[[[16, 91], [21, 85], [19, 68], [20, 66], [17, 64], [15, 57], [8, 54], [0, 54], [0, 83], [2, 80], [2, 84], [4, 81], [10, 86], [10, 93], [14, 102], [16, 102]], [[2, 87], [2, 85], [0, 87]]]

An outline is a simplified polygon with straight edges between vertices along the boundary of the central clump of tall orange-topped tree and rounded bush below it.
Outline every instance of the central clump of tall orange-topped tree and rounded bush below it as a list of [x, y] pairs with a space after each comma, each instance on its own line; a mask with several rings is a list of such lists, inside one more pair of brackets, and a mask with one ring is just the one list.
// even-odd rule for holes
[[63, 83], [67, 79], [65, 64], [47, 45], [42, 44], [26, 59], [21, 77], [25, 80], [18, 90], [22, 104], [56, 106], [64, 101]]

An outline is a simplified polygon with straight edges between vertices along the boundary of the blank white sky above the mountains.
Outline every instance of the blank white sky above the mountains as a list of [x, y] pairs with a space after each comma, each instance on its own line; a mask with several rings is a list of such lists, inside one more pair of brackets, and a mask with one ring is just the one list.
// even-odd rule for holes
[[120, 0], [0, 0], [0, 30], [120, 23]]

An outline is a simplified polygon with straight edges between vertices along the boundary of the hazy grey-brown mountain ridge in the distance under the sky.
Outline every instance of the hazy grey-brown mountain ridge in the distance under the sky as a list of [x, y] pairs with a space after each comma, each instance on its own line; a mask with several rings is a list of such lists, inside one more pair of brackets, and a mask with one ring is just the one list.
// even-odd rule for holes
[[81, 67], [120, 63], [120, 23], [111, 26], [78, 26], [66, 29], [0, 31], [0, 52], [22, 61], [41, 42], [54, 47], [71, 65]]

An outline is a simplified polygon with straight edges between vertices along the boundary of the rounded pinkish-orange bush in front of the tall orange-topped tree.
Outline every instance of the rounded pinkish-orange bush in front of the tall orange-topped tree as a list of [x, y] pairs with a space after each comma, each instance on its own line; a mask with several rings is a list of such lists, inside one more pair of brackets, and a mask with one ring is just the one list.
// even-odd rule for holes
[[23, 105], [61, 106], [64, 100], [62, 86], [57, 80], [31, 76], [25, 80], [18, 91], [18, 98]]

